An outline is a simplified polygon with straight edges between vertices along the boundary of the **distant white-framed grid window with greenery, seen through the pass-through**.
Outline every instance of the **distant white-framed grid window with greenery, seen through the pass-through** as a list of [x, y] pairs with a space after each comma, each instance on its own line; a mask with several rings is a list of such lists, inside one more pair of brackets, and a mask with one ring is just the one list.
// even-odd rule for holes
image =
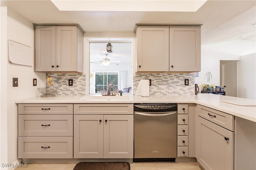
[[110, 91], [113, 91], [118, 88], [118, 72], [95, 72], [95, 92], [107, 91], [110, 80], [114, 84]]

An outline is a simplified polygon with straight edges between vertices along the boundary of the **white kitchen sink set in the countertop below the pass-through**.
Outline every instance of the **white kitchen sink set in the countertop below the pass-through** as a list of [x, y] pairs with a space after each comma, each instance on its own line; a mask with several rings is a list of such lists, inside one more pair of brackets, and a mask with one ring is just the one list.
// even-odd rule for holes
[[130, 100], [130, 96], [85, 96], [80, 100]]

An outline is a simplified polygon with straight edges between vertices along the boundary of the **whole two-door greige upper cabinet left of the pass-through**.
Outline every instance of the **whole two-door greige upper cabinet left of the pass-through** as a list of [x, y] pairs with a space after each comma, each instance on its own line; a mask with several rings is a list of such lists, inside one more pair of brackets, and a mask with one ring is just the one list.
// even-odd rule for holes
[[36, 25], [35, 71], [83, 72], [83, 36], [78, 25]]

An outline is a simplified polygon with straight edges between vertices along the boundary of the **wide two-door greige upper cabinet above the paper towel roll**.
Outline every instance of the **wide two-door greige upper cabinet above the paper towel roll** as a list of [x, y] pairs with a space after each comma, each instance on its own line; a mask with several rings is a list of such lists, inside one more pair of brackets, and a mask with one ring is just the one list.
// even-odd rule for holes
[[201, 26], [137, 25], [136, 72], [201, 70]]

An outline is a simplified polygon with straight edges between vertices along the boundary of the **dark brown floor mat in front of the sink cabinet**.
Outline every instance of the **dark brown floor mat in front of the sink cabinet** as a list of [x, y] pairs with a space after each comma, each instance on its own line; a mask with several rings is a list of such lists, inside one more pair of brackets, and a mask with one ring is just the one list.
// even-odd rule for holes
[[128, 162], [80, 162], [74, 170], [130, 170]]

